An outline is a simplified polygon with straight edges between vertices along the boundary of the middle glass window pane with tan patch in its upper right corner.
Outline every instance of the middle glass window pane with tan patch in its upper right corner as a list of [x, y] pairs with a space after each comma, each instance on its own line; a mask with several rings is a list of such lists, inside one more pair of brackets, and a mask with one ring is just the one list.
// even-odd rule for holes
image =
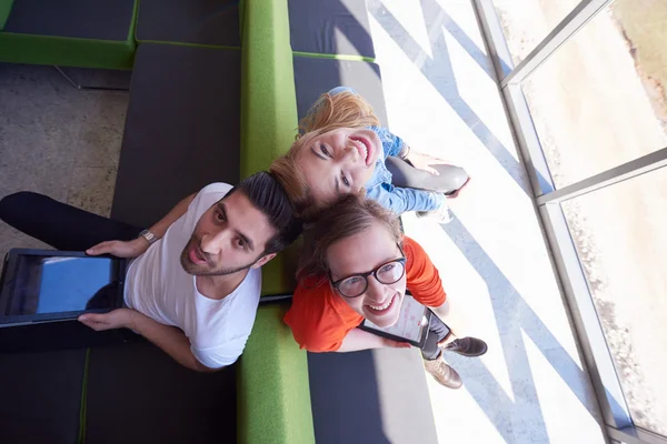
[[665, 1], [617, 0], [522, 82], [556, 188], [667, 147], [665, 23]]

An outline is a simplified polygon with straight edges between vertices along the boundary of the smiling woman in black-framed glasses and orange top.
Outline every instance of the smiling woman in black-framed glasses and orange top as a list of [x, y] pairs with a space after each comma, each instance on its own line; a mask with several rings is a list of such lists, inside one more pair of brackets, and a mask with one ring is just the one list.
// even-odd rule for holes
[[487, 345], [475, 337], [457, 337], [458, 325], [438, 271], [424, 249], [401, 234], [395, 214], [372, 200], [349, 195], [321, 215], [307, 233], [306, 245], [299, 284], [285, 316], [301, 349], [410, 347], [357, 329], [364, 319], [380, 327], [396, 324], [407, 289], [435, 314], [421, 349], [426, 370], [447, 387], [462, 385], [442, 351], [479, 356]]

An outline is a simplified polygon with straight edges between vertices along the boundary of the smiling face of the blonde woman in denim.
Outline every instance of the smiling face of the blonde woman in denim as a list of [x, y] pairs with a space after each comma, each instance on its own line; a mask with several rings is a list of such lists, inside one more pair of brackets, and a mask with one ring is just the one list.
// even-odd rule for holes
[[364, 188], [381, 152], [382, 143], [374, 131], [340, 128], [307, 139], [297, 164], [312, 198], [317, 202], [332, 202]]

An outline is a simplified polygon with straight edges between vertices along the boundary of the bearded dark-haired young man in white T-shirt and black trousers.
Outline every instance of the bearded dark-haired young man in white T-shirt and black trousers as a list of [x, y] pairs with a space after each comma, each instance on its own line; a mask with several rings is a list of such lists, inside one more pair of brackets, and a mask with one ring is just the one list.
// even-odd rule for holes
[[285, 190], [267, 172], [235, 188], [210, 184], [143, 231], [29, 192], [2, 199], [0, 219], [59, 250], [137, 258], [126, 278], [128, 307], [79, 321], [97, 331], [131, 329], [201, 372], [241, 354], [259, 303], [260, 266], [301, 232]]

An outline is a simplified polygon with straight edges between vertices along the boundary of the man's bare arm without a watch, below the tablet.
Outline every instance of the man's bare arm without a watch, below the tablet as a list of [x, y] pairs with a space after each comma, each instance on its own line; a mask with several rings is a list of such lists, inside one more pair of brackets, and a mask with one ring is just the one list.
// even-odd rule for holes
[[207, 367], [197, 361], [190, 350], [190, 340], [181, 330], [160, 324], [136, 310], [118, 309], [102, 314], [88, 313], [79, 316], [79, 321], [98, 332], [110, 329], [131, 329], [162, 349], [185, 367], [197, 372], [220, 370]]

